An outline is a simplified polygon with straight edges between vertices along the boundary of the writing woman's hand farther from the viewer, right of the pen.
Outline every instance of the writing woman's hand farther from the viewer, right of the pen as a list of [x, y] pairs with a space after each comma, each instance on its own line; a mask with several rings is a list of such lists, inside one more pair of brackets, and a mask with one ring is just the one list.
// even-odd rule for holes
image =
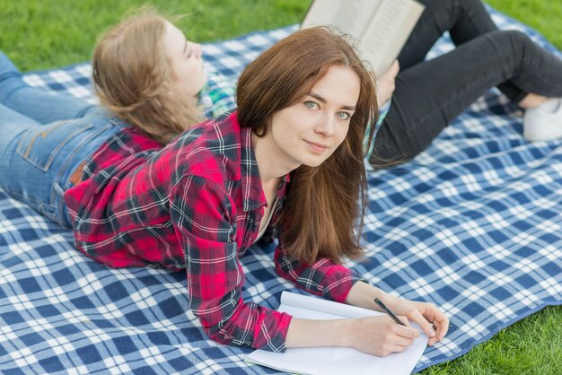
[[433, 303], [401, 300], [400, 298], [385, 296], [384, 303], [395, 313], [415, 321], [429, 336], [428, 345], [441, 340], [449, 330], [449, 318], [438, 310]]

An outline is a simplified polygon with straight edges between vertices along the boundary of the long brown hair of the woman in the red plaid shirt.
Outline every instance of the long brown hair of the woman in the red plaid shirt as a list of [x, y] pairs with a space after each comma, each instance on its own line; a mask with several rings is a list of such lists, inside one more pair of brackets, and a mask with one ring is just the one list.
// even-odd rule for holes
[[[373, 74], [345, 37], [317, 27], [296, 31], [261, 54], [242, 72], [236, 92], [241, 126], [264, 136], [273, 113], [302, 100], [331, 66], [349, 68], [359, 77], [356, 111], [345, 141], [328, 160], [319, 167], [302, 165], [291, 172], [277, 222], [288, 253], [305, 263], [319, 257], [338, 263], [343, 256], [356, 257], [362, 252], [359, 240], [366, 207], [363, 141], [367, 124], [376, 122], [378, 116]], [[366, 136], [371, 141], [373, 132]]]

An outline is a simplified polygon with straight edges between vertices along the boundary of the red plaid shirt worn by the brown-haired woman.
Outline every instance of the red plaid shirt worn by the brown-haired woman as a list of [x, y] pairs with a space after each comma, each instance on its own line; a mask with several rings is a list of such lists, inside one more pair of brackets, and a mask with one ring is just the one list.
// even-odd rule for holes
[[[65, 198], [76, 247], [87, 256], [113, 267], [185, 268], [189, 306], [211, 338], [283, 351], [291, 316], [241, 299], [239, 257], [254, 243], [267, 205], [250, 135], [235, 112], [163, 149], [127, 127], [94, 154]], [[288, 175], [271, 222], [287, 182]], [[334, 301], [345, 301], [360, 280], [326, 259], [300, 264], [282, 240], [275, 264], [279, 275]]]

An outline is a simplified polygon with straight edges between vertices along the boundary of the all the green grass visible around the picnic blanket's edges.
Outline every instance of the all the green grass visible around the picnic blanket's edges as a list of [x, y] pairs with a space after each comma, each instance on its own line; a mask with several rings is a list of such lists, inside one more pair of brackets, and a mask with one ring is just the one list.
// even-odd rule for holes
[[[487, 0], [562, 48], [559, 0]], [[136, 0], [0, 0], [0, 49], [23, 71], [88, 60], [97, 35], [119, 22]], [[189, 39], [228, 39], [299, 22], [308, 0], [160, 0]], [[562, 307], [549, 307], [500, 331], [461, 358], [423, 374], [562, 374]]]

